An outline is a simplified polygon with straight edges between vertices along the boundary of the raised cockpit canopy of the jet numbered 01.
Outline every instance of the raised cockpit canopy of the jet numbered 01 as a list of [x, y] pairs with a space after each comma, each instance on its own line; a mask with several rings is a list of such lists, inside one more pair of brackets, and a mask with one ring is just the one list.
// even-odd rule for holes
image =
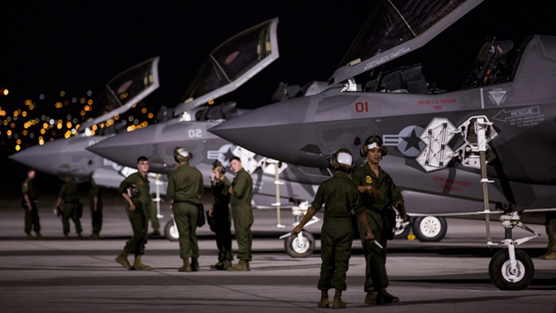
[[482, 1], [378, 1], [329, 81], [350, 79], [424, 46]]

